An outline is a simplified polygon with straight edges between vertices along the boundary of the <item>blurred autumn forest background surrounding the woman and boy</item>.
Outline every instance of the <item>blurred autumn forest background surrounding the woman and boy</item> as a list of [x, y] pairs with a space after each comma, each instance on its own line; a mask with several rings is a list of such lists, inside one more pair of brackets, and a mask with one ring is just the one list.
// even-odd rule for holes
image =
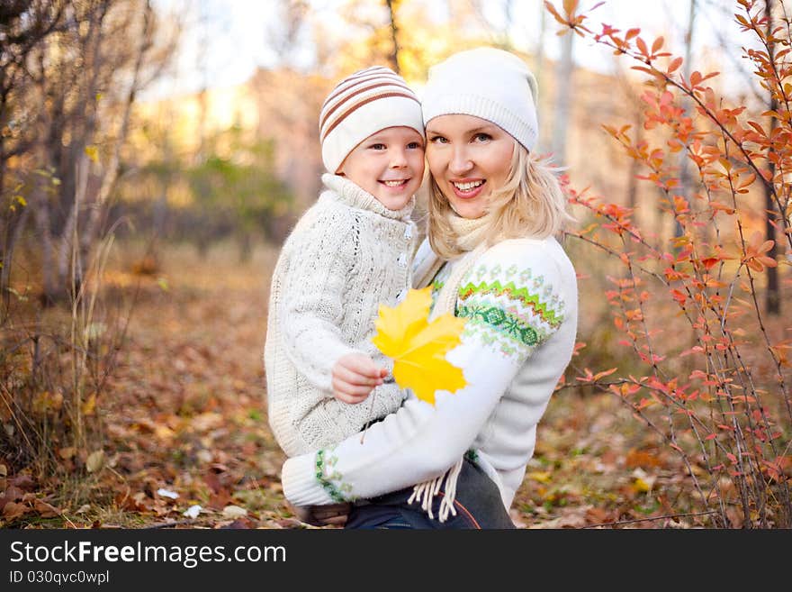
[[4, 0], [0, 525], [302, 527], [262, 352], [321, 102], [482, 44], [536, 73], [577, 218], [515, 521], [792, 525], [787, 6], [594, 4]]

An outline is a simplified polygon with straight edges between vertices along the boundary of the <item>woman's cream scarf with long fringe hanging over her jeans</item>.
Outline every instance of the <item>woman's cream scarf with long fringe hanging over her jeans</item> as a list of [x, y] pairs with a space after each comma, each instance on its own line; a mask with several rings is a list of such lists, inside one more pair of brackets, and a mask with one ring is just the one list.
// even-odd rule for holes
[[[469, 220], [452, 212], [448, 215], [448, 222], [455, 232], [457, 246], [465, 251], [463, 255], [460, 255], [460, 257], [464, 259], [460, 260], [455, 265], [451, 275], [446, 279], [446, 283], [440, 289], [437, 299], [435, 300], [435, 305], [432, 308], [430, 318], [436, 318], [444, 313], [455, 314], [456, 298], [459, 294], [459, 287], [462, 284], [462, 280], [465, 274], [467, 274], [470, 269], [473, 269], [476, 261], [480, 259], [482, 253], [487, 250], [489, 246], [485, 238], [487, 232], [490, 230], [490, 215]], [[428, 283], [434, 279], [435, 275], [437, 275], [437, 271], [442, 267], [443, 263], [444, 261], [437, 258], [435, 264], [428, 266], [428, 268], [424, 270], [423, 277], [417, 278], [417, 286], [427, 286]], [[456, 482], [459, 478], [459, 473], [462, 471], [463, 462], [464, 458], [461, 458], [456, 461], [451, 469], [448, 469], [439, 477], [429, 479], [413, 487], [412, 495], [410, 499], [407, 500], [408, 504], [419, 502], [421, 508], [429, 515], [429, 518], [434, 518], [435, 516], [432, 513], [432, 500], [440, 491], [440, 487], [442, 487], [443, 480], [445, 479], [445, 495], [443, 499], [440, 500], [437, 518], [440, 522], [446, 522], [446, 518], [449, 514], [456, 515], [456, 509], [454, 507], [454, 501], [456, 499]]]

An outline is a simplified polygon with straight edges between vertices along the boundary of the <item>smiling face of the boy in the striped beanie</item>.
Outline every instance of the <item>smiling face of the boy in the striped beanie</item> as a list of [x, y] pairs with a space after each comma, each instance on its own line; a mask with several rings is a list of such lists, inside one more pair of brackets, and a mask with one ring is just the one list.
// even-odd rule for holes
[[360, 142], [338, 174], [376, 197], [389, 210], [401, 210], [424, 175], [424, 140], [410, 127], [388, 127]]

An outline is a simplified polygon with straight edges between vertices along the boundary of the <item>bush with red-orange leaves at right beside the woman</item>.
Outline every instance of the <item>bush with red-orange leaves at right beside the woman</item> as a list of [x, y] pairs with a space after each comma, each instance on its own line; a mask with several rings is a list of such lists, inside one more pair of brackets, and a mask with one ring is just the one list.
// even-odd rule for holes
[[674, 221], [662, 236], [635, 223], [632, 208], [566, 185], [585, 221], [572, 235], [618, 262], [605, 296], [624, 354], [605, 368], [630, 369], [586, 369], [578, 381], [622, 399], [680, 454], [707, 524], [792, 527], [792, 328], [779, 314], [789, 280], [778, 283], [789, 265], [783, 250], [792, 249], [790, 19], [770, 16], [763, 2], [736, 3], [741, 41], [760, 48], [745, 57], [770, 107], [751, 113], [708, 86], [716, 72], [689, 68], [686, 77], [662, 37], [650, 42], [608, 24], [595, 32], [574, 0], [563, 10], [545, 6], [646, 76], [651, 132], [634, 139], [628, 125], [603, 127], [640, 163], [640, 178], [658, 188], [657, 205]]

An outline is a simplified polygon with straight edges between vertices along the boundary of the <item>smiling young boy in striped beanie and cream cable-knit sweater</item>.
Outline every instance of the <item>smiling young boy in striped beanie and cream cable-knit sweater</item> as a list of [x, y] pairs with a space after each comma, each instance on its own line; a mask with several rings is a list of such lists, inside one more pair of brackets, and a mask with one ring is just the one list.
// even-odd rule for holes
[[397, 304], [411, 285], [419, 99], [389, 68], [360, 70], [325, 100], [320, 141], [327, 190], [284, 243], [267, 318], [269, 424], [289, 456], [340, 442], [404, 396], [383, 381], [392, 361], [371, 338], [379, 305]]

